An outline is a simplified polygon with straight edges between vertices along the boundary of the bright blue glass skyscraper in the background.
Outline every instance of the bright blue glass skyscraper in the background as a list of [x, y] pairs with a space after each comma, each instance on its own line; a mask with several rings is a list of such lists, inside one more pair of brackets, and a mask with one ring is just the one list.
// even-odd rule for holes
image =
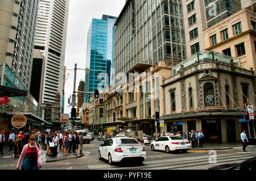
[[[117, 17], [103, 15], [101, 19], [93, 19], [90, 24], [87, 36], [85, 66], [86, 69], [96, 71], [89, 71], [88, 73], [88, 70], [86, 70], [85, 91], [94, 92], [95, 89], [103, 90], [105, 86], [110, 85], [110, 67], [113, 66], [114, 63], [113, 30], [115, 20], [117, 20]], [[97, 70], [105, 71], [105, 73]], [[85, 94], [85, 103], [89, 102], [90, 94]]]

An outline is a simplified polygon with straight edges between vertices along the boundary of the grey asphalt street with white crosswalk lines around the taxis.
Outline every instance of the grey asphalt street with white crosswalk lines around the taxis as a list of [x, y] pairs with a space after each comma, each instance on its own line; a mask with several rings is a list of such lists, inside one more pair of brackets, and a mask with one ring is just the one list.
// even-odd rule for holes
[[[119, 163], [113, 166], [106, 160], [98, 159], [98, 147], [102, 141], [94, 140], [90, 144], [84, 144], [84, 157], [77, 159], [66, 159], [64, 161], [43, 163], [41, 170], [207, 170], [216, 165], [226, 163], [239, 163], [245, 159], [256, 156], [256, 146], [248, 146], [247, 152], [243, 152], [241, 147], [233, 149], [216, 150], [217, 163], [209, 163], [212, 159], [210, 150], [189, 150], [187, 153], [170, 153], [164, 151], [151, 151], [146, 146], [147, 159], [142, 165], [134, 163]], [[62, 153], [61, 153], [62, 154]], [[12, 170], [15, 165], [1, 165], [0, 170]]]

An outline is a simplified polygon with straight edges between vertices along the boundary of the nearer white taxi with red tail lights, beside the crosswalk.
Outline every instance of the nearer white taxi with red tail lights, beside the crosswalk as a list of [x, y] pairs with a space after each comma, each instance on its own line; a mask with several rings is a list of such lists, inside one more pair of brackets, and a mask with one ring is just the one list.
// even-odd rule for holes
[[142, 164], [146, 159], [146, 148], [134, 138], [117, 135], [101, 144], [98, 149], [98, 159], [102, 158], [108, 160], [110, 165], [125, 160], [135, 160]]

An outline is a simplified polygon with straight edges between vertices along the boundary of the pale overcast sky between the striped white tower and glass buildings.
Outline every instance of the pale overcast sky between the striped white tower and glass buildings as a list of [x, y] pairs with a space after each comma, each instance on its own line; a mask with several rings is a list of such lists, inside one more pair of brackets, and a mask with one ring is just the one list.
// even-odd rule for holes
[[[67, 69], [74, 69], [75, 64], [77, 68], [85, 69], [87, 32], [92, 19], [101, 19], [103, 14], [118, 17], [123, 6], [125, 6], [125, 0], [70, 0], [65, 49]], [[74, 71], [67, 70], [66, 78], [64, 113], [70, 113], [68, 98], [73, 94]], [[76, 91], [80, 80], [84, 81], [84, 78], [85, 71], [77, 70]]]

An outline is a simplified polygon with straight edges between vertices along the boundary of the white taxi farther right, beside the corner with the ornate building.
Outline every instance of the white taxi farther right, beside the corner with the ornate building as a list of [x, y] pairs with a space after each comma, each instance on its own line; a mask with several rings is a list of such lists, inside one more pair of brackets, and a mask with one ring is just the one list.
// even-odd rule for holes
[[166, 153], [175, 150], [181, 150], [185, 153], [190, 147], [189, 141], [180, 136], [162, 136], [150, 144], [152, 151], [162, 150]]

